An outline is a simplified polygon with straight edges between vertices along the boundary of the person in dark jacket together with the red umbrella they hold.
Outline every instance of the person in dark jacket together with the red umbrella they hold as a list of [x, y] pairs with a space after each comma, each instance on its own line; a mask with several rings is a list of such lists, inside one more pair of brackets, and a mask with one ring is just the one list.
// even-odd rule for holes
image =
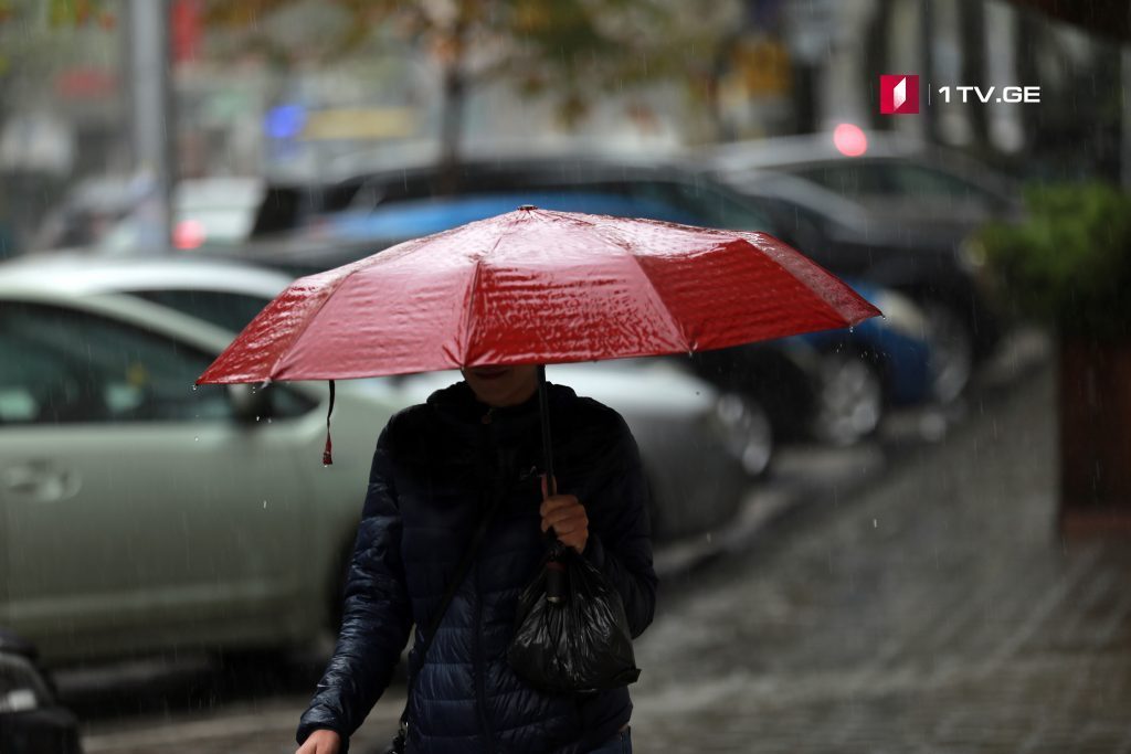
[[544, 693], [507, 662], [543, 532], [613, 584], [631, 635], [656, 599], [628, 427], [534, 365], [690, 354], [878, 314], [765, 233], [532, 206], [292, 284], [198, 383], [452, 367], [465, 378], [378, 440], [342, 631], [300, 754], [346, 749], [414, 624], [407, 751], [627, 751], [627, 687]]

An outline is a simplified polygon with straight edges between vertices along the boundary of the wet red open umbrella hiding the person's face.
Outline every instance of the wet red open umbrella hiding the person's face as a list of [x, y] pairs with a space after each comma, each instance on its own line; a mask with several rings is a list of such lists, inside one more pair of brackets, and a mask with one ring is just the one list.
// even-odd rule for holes
[[197, 382], [690, 353], [877, 314], [765, 233], [526, 206], [296, 280]]

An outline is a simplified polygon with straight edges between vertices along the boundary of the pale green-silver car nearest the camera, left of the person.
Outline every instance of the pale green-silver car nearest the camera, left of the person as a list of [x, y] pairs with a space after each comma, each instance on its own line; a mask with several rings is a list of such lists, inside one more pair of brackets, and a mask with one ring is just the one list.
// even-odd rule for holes
[[0, 276], [0, 624], [52, 662], [312, 640], [399, 406], [342, 391], [326, 469], [321, 385], [193, 389], [230, 331], [53, 277]]

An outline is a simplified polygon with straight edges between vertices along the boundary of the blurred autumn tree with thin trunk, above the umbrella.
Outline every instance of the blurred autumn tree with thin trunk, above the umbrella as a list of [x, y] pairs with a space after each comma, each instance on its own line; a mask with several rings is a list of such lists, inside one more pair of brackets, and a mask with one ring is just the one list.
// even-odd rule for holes
[[[208, 0], [205, 23], [241, 29], [282, 66], [309, 60], [270, 38], [266, 19], [305, 0]], [[469, 93], [507, 79], [518, 92], [549, 96], [572, 124], [596, 97], [657, 81], [680, 81], [693, 102], [710, 103], [718, 50], [742, 17], [740, 0], [713, 2], [694, 14], [677, 0], [330, 0], [343, 14], [334, 38], [312, 40], [316, 54], [343, 57], [390, 36], [440, 70], [442, 189], [456, 190], [459, 140]], [[636, 116], [647, 113], [636, 103]]]

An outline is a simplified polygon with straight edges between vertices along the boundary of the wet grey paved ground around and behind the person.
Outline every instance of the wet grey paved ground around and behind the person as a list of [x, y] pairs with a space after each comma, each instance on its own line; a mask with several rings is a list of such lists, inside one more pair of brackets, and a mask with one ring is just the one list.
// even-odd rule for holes
[[[637, 751], [1131, 752], [1131, 545], [1052, 535], [1047, 371], [972, 414], [666, 582], [638, 642]], [[118, 713], [92, 685], [88, 752], [293, 752], [317, 665], [250, 667], [120, 691]], [[138, 673], [119, 688], [153, 687]], [[402, 703], [354, 751], [380, 751]]]

